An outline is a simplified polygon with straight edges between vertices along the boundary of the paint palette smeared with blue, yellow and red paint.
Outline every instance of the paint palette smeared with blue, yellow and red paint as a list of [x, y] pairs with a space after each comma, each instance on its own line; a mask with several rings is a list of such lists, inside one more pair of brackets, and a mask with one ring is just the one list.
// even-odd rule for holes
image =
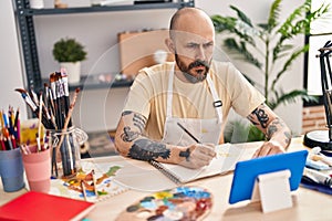
[[212, 207], [211, 193], [200, 187], [177, 187], [154, 192], [128, 206], [117, 221], [203, 220]]

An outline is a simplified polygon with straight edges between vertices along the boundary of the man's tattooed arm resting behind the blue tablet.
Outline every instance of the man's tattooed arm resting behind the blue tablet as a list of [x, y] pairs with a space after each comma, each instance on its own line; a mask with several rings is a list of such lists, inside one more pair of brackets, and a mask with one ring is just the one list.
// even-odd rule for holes
[[258, 106], [248, 119], [262, 133], [266, 141], [253, 155], [262, 157], [284, 152], [291, 141], [291, 130], [266, 104]]

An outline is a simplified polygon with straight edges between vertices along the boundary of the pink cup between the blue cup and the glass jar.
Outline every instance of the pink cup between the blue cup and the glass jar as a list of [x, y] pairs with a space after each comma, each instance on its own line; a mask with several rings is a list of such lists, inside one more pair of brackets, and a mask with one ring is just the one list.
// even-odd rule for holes
[[27, 146], [30, 154], [23, 154], [23, 166], [30, 190], [49, 192], [51, 188], [50, 148], [38, 151], [37, 146]]

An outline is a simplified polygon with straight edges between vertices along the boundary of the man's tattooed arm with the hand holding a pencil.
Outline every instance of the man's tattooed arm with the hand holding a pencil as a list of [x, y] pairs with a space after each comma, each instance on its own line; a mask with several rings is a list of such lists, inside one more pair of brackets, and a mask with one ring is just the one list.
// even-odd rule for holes
[[141, 160], [157, 160], [178, 164], [189, 168], [200, 168], [215, 157], [214, 147], [191, 145], [180, 147], [165, 145], [144, 136], [146, 118], [137, 113], [123, 112], [115, 134], [115, 147], [125, 156]]

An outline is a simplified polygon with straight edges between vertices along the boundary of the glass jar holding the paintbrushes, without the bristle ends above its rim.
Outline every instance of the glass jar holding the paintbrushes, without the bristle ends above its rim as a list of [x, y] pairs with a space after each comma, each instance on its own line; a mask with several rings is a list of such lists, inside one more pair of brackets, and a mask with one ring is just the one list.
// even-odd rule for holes
[[81, 144], [87, 140], [82, 129], [71, 127], [66, 130], [46, 130], [52, 146], [52, 177], [69, 178], [81, 169]]

